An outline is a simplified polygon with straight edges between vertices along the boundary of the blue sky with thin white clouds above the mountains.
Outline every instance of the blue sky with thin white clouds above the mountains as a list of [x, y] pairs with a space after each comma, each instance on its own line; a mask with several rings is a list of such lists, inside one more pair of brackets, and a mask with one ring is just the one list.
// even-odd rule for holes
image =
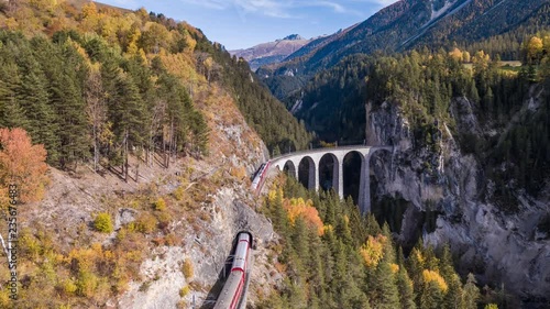
[[331, 34], [366, 20], [396, 0], [102, 0], [127, 9], [144, 7], [199, 27], [228, 49], [245, 48], [297, 33]]

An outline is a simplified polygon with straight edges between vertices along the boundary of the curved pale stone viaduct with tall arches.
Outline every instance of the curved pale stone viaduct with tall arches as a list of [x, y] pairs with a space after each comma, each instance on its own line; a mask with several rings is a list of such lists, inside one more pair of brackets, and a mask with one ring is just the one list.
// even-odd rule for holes
[[321, 158], [330, 156], [333, 163], [332, 188], [343, 198], [343, 161], [351, 153], [358, 153], [361, 156], [361, 178], [359, 186], [359, 208], [361, 213], [366, 214], [371, 211], [371, 189], [370, 189], [370, 166], [371, 156], [377, 151], [393, 152], [392, 146], [344, 146], [333, 148], [318, 148], [302, 152], [295, 152], [274, 157], [270, 161], [270, 169], [277, 167], [279, 170], [287, 170], [298, 179], [298, 168], [302, 161], [308, 164], [308, 189], [319, 189], [319, 165]]

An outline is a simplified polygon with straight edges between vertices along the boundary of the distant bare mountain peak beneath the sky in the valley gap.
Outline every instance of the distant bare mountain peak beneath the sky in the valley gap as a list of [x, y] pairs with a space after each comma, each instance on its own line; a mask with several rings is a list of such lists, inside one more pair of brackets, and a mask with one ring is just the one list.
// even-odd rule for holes
[[244, 58], [249, 62], [250, 68], [255, 71], [261, 66], [280, 63], [311, 41], [314, 38], [307, 40], [298, 34], [292, 34], [275, 42], [262, 43], [246, 49], [229, 51], [229, 53]]

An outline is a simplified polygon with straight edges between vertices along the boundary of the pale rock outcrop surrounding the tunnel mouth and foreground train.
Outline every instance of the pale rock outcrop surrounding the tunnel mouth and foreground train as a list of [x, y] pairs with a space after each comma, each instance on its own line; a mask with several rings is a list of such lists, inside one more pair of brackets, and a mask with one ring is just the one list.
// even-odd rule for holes
[[[239, 187], [221, 188], [207, 206], [211, 222], [199, 221], [198, 225], [176, 223], [189, 235], [182, 246], [161, 246], [153, 252], [153, 257], [141, 265], [143, 282], [134, 282], [118, 305], [120, 308], [175, 308], [182, 300], [179, 289], [189, 285], [191, 293], [184, 299], [187, 305], [195, 302], [196, 308], [211, 308], [222, 287], [223, 267], [230, 255], [233, 238], [241, 230], [250, 230], [256, 241], [253, 251], [255, 263], [252, 269], [251, 291], [248, 300], [253, 304], [256, 291], [267, 293], [274, 280], [268, 275], [272, 266], [265, 261], [266, 244], [274, 233], [270, 222], [243, 202]], [[194, 276], [186, 278], [182, 273], [185, 261], [191, 261]], [[218, 284], [215, 285], [220, 280]], [[146, 288], [143, 283], [147, 283]]]

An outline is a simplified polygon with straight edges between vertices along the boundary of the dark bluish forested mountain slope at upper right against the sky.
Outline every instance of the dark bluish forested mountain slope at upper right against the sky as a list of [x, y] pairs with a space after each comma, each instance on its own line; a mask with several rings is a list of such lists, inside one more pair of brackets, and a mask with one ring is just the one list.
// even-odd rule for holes
[[296, 90], [304, 85], [304, 77], [311, 78], [356, 53], [393, 53], [424, 45], [449, 47], [453, 43], [480, 41], [506, 32], [534, 33], [546, 23], [549, 4], [548, 0], [402, 0], [329, 44], [307, 53], [298, 51], [299, 57], [290, 55], [290, 60], [266, 67], [261, 76], [278, 98], [284, 98], [280, 95], [288, 96], [288, 92], [277, 90], [280, 81], [276, 77], [287, 71], [293, 71], [296, 80], [286, 80], [285, 89]]

